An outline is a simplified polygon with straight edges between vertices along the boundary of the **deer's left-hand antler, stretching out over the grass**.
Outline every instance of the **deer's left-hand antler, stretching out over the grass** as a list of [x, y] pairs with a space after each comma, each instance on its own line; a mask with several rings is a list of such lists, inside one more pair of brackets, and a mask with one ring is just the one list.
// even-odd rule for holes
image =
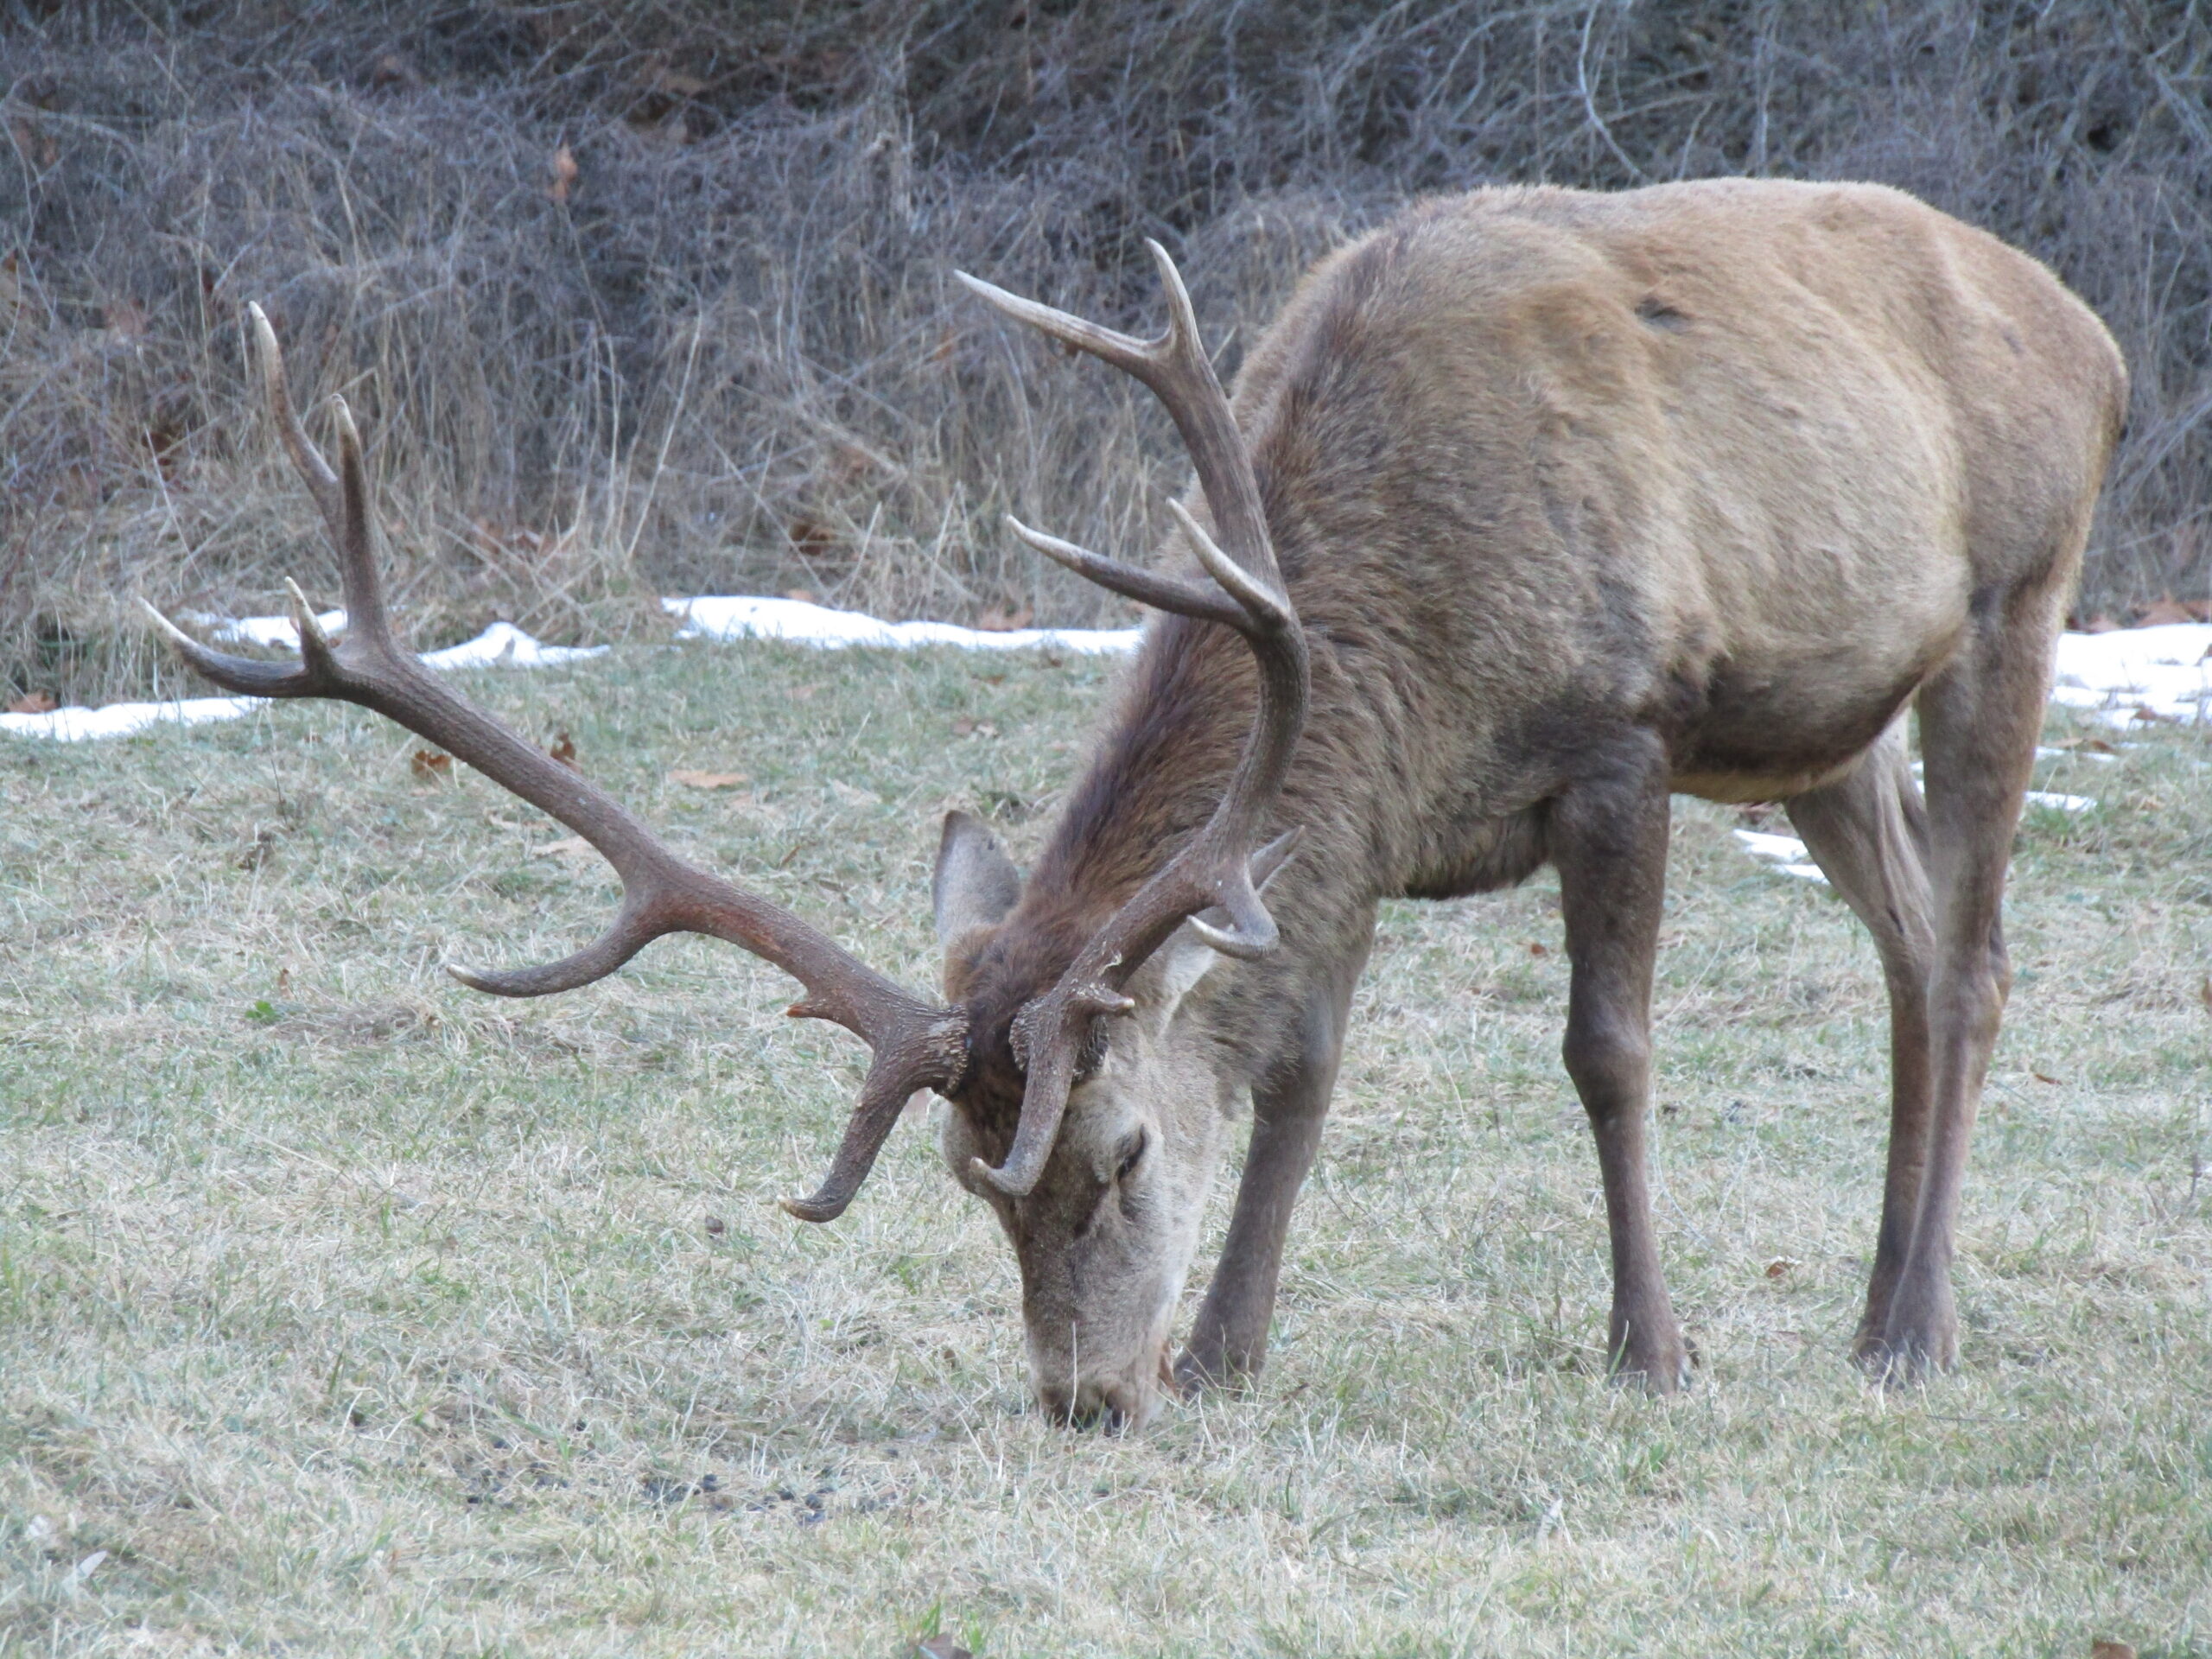
[[867, 1042], [874, 1064], [845, 1126], [830, 1175], [807, 1199], [783, 1199], [801, 1221], [832, 1221], [867, 1179], [900, 1106], [918, 1088], [951, 1093], [967, 1068], [967, 1015], [909, 995], [781, 905], [710, 876], [681, 858], [613, 796], [555, 761], [513, 728], [447, 690], [414, 653], [392, 637], [369, 526], [369, 482], [361, 434], [343, 398], [332, 398], [338, 425], [338, 471], [307, 440], [283, 378], [276, 332], [252, 310], [254, 345], [276, 434], [307, 482], [330, 526], [345, 584], [345, 637], [332, 644], [305, 595], [292, 588], [299, 661], [230, 657], [190, 639], [153, 606], [146, 611], [199, 672], [252, 697], [334, 697], [372, 708], [409, 732], [458, 754], [502, 790], [560, 818], [597, 847], [622, 876], [622, 909], [591, 945], [560, 962], [509, 973], [449, 967], [462, 984], [493, 995], [533, 998], [606, 978], [661, 933], [708, 933], [743, 945], [805, 987], [792, 1015], [834, 1020]]

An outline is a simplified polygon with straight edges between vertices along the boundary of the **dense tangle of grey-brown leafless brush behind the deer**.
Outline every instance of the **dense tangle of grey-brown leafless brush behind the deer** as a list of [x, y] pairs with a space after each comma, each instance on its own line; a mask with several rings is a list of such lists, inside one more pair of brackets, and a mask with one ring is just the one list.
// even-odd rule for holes
[[[1104, 602], [1006, 509], [1135, 551], [1133, 387], [951, 281], [1223, 361], [1420, 192], [1882, 179], [2073, 283], [2135, 369], [2084, 606], [2212, 582], [2212, 15], [2194, 0], [82, 0], [0, 11], [0, 692], [164, 684], [126, 608], [330, 595], [241, 374], [259, 299], [363, 418], [422, 644], [792, 591]], [[993, 615], [995, 613], [995, 615]]]

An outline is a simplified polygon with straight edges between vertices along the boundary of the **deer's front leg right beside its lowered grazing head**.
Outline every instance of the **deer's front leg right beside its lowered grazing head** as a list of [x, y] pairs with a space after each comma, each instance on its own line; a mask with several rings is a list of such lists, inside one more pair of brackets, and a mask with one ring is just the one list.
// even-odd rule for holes
[[1360, 929], [1356, 949], [1307, 995], [1290, 1060], [1252, 1088], [1252, 1139], [1237, 1183], [1230, 1237], [1199, 1305], [1190, 1345], [1175, 1363], [1175, 1380], [1186, 1391], [1250, 1383], [1267, 1358], [1267, 1325], [1283, 1276], [1290, 1212], [1321, 1146], [1321, 1119], [1329, 1110], [1336, 1066], [1345, 1053], [1352, 987], [1358, 984], [1371, 942], [1374, 916]]

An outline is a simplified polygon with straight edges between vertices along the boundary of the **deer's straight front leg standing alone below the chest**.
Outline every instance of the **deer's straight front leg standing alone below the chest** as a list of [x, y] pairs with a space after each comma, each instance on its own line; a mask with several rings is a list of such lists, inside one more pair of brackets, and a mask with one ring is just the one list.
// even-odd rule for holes
[[1562, 1057], [1590, 1117], [1606, 1183], [1613, 1369], [1672, 1394], [1690, 1380], [1690, 1345], [1659, 1274], [1644, 1141], [1668, 765], [1657, 739], [1644, 732], [1619, 739], [1599, 759], [1604, 770], [1562, 792], [1546, 821], [1573, 967]]

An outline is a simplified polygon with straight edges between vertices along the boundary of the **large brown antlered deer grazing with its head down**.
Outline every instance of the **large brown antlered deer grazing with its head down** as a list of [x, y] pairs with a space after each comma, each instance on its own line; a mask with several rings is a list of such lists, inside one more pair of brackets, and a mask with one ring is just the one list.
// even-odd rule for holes
[[[1889, 1170], [1854, 1347], [1885, 1371], [1949, 1367], [1960, 1179], [2008, 984], [2006, 858], [2126, 396], [2104, 327], [2033, 259], [1893, 190], [1482, 190], [1325, 259], [1225, 396], [1152, 252], [1155, 341], [964, 279], [1150, 387], [1197, 487], [1164, 571], [1015, 526], [1164, 615], [1026, 880], [982, 823], [947, 818], [945, 1002], [686, 865], [396, 644], [361, 442], [336, 405], [332, 473], [259, 312], [349, 626], [325, 639], [294, 588], [296, 664], [170, 635], [230, 690], [387, 714], [622, 874], [595, 945], [462, 982], [564, 991], [697, 931], [787, 969], [792, 1013], [867, 1040], [845, 1139], [792, 1214], [843, 1212], [907, 1097], [945, 1095], [947, 1164], [1020, 1259], [1040, 1400], [1110, 1422], [1144, 1422], [1164, 1385], [1259, 1369], [1376, 902], [1544, 863], [1613, 1234], [1613, 1365], [1679, 1389], [1692, 1349], [1644, 1144], [1668, 796], [1785, 801], [1889, 984]], [[1245, 1099], [1228, 1245], [1170, 1369]]]

